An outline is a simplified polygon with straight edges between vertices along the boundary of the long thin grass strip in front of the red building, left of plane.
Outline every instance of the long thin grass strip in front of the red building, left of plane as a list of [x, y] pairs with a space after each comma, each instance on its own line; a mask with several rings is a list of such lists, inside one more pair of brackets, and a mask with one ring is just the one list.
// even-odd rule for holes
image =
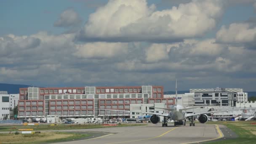
[[44, 130], [67, 130], [67, 129], [88, 129], [88, 128], [109, 128], [109, 127], [125, 127], [125, 126], [142, 126], [147, 124], [120, 124], [117, 126], [103, 126], [103, 125], [93, 125], [93, 124], [59, 124], [59, 125], [19, 125], [19, 126], [0, 126], [0, 131], [18, 131], [18, 129], [23, 128], [33, 128], [34, 131], [44, 131]]

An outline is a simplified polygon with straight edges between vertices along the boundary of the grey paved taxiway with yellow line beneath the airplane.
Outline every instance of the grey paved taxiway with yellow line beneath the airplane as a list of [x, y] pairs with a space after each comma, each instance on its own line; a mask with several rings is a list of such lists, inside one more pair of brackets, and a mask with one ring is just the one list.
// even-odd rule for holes
[[157, 125], [150, 124], [138, 127], [75, 130], [83, 132], [97, 132], [102, 133], [103, 135], [93, 139], [61, 142], [58, 144], [187, 144], [216, 140], [223, 137], [218, 125], [196, 124], [196, 126], [191, 127], [189, 125], [162, 127], [161, 125], [162, 124], [160, 123]]

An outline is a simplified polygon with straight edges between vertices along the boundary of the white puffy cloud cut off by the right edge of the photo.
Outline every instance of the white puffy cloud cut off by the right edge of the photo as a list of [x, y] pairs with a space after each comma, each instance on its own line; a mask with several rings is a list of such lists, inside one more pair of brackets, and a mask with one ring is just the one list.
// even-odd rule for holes
[[222, 26], [216, 33], [216, 39], [221, 43], [253, 43], [256, 40], [256, 27], [251, 27], [247, 23]]

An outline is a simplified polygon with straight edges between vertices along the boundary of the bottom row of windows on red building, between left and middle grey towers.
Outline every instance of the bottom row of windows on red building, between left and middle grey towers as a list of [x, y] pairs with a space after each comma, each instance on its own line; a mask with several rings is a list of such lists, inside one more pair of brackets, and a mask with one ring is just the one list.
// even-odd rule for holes
[[51, 111], [50, 115], [93, 115], [93, 110]]

